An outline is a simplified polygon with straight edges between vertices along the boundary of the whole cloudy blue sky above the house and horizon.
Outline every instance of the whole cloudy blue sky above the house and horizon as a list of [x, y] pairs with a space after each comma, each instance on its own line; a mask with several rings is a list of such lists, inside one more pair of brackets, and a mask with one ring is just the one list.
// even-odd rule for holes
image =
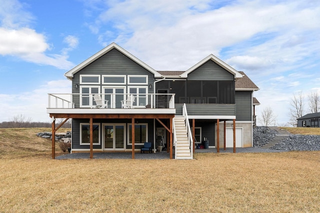
[[156, 70], [212, 53], [260, 88], [256, 114], [270, 107], [277, 125], [294, 93], [320, 94], [320, 1], [0, 0], [0, 122], [50, 122], [47, 93], [70, 93], [63, 74], [111, 42]]

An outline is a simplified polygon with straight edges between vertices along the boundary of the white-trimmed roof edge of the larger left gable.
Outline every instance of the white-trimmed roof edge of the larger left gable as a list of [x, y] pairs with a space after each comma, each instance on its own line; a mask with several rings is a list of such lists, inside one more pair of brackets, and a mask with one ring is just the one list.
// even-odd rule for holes
[[122, 47], [120, 47], [119, 45], [117, 45], [114, 42], [109, 44], [108, 46], [104, 47], [102, 50], [95, 53], [94, 55], [92, 55], [91, 57], [89, 57], [88, 59], [86, 59], [85, 61], [80, 63], [79, 65], [75, 66], [70, 71], [66, 72], [64, 74], [64, 76], [67, 77], [68, 79], [73, 78], [73, 75], [76, 72], [80, 71], [81, 69], [83, 69], [84, 67], [86, 67], [87, 65], [89, 65], [90, 63], [92, 63], [93, 61], [95, 61], [99, 57], [103, 56], [104, 54], [106, 54], [107, 52], [109, 52], [112, 49], [117, 49], [122, 54], [124, 54], [125, 56], [127, 56], [128, 58], [130, 58], [131, 60], [133, 60], [134, 62], [136, 62], [137, 64], [139, 64], [140, 66], [142, 66], [143, 68], [145, 68], [146, 70], [151, 72], [152, 74], [154, 74], [154, 77], [161, 77], [162, 76], [160, 73], [155, 71], [153, 68], [151, 68], [150, 66], [148, 66], [147, 64], [145, 64], [144, 62], [142, 62], [141, 60], [139, 60], [138, 58], [136, 58], [131, 53], [129, 53], [128, 51], [126, 51], [125, 49], [123, 49]]

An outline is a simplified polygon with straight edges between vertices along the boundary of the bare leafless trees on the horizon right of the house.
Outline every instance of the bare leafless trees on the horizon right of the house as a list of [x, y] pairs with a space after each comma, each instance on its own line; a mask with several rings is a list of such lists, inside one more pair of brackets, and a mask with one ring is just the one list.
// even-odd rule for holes
[[[306, 104], [307, 102], [307, 104]], [[306, 106], [308, 107], [306, 109]], [[320, 96], [318, 92], [310, 92], [307, 95], [303, 95], [302, 91], [294, 93], [290, 99], [290, 108], [287, 122], [288, 125], [296, 127], [297, 119], [305, 115], [306, 113], [320, 112]], [[268, 106], [261, 112], [261, 116], [258, 121], [263, 126], [270, 126], [276, 123], [276, 115], [273, 110]]]

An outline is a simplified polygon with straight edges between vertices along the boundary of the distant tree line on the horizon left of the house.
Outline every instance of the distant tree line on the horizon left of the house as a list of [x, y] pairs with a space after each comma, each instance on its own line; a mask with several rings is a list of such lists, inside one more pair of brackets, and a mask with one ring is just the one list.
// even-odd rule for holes
[[[55, 126], [58, 126], [64, 119], [56, 119]], [[0, 128], [51, 128], [50, 122], [32, 122], [31, 118], [24, 115], [14, 116], [10, 121], [0, 123]], [[70, 119], [62, 125], [62, 128], [71, 128]]]

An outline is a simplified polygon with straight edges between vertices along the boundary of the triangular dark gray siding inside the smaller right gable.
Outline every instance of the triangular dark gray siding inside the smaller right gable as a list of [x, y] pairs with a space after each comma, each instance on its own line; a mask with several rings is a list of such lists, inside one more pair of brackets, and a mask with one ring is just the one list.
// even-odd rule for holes
[[187, 80], [233, 80], [229, 73], [212, 60], [208, 60], [197, 69], [188, 74]]

